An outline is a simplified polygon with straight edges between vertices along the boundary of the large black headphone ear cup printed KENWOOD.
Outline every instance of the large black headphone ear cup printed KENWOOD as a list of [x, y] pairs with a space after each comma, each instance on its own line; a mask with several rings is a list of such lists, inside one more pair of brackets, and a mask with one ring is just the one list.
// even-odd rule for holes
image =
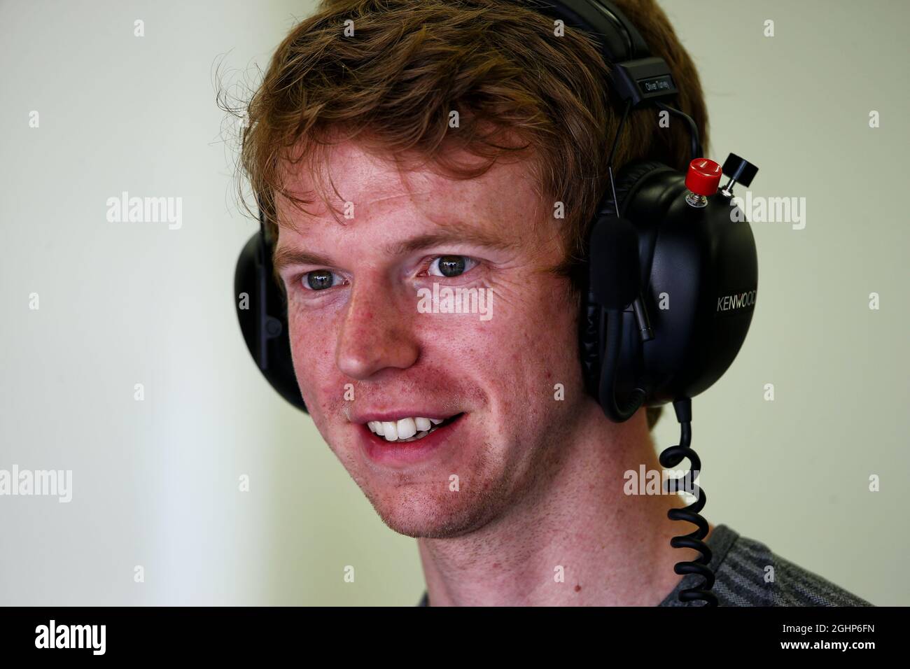
[[[611, 419], [626, 413], [612, 411], [607, 402], [612, 398], [622, 409], [642, 390], [643, 405], [653, 407], [710, 388], [733, 363], [752, 320], [758, 286], [752, 228], [744, 217], [733, 216], [735, 205], [720, 193], [709, 196], [704, 207], [690, 206], [685, 179], [659, 163], [622, 170], [617, 178], [620, 214], [638, 238], [641, 315], [623, 309], [613, 310], [612, 319], [610, 313], [595, 319], [601, 316], [595, 309], [604, 311], [597, 300], [616, 296], [591, 287], [580, 328], [589, 341], [600, 343], [594, 348], [600, 355], [589, 367], [607, 381], [594, 396]], [[617, 343], [618, 354], [612, 349]], [[609, 370], [601, 360], [605, 350], [618, 356]]]

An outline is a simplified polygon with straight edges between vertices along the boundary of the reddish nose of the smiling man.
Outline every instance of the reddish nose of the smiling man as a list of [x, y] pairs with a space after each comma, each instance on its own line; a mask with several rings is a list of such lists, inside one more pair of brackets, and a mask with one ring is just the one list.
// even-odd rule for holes
[[360, 277], [351, 288], [339, 329], [336, 364], [353, 379], [386, 368], [406, 370], [420, 354], [413, 331], [414, 304], [384, 281]]

